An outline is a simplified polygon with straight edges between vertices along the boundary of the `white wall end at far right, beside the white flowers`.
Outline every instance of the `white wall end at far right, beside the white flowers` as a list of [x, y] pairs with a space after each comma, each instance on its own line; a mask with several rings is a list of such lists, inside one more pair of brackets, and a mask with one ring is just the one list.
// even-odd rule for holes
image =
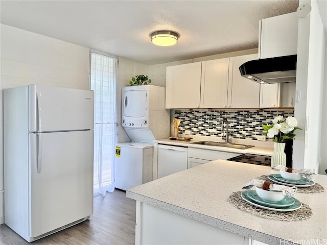
[[[325, 60], [325, 34], [316, 1], [300, 1], [310, 4], [310, 15], [299, 18], [296, 91], [300, 101], [295, 103], [294, 116], [301, 131], [297, 131], [293, 145], [293, 167], [314, 168], [319, 172], [323, 76]], [[325, 127], [325, 125], [323, 125]], [[304, 150], [304, 151], [303, 151]], [[325, 149], [321, 149], [325, 152]]]

